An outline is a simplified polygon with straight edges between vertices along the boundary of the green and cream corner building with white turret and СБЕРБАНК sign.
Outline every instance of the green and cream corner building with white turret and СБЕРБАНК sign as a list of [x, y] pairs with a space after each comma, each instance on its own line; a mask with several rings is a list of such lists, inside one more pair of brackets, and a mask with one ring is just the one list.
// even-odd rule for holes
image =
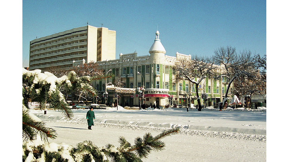
[[[115, 83], [119, 78], [123, 81], [123, 91], [118, 91], [120, 96], [119, 104], [123, 106], [136, 106], [140, 104], [137, 87], [144, 86], [144, 100], [147, 105], [156, 104], [162, 107], [165, 105], [196, 105], [196, 92], [194, 85], [188, 80], [175, 82], [176, 71], [173, 69], [178, 58], [190, 59], [190, 55], [176, 52], [176, 57], [165, 55], [166, 50], [159, 39], [159, 31], [156, 31], [156, 38], [149, 49], [149, 55], [137, 56], [137, 52], [120, 54], [119, 59], [105, 60], [98, 62], [99, 68], [104, 72], [112, 69], [114, 79], [107, 80], [107, 83]], [[105, 81], [95, 82], [94, 86], [101, 93], [105, 91]], [[214, 105], [222, 101], [226, 92], [225, 80], [214, 80], [206, 78], [199, 87], [199, 96], [202, 93], [208, 94], [207, 104]], [[134, 90], [134, 91], [133, 91]], [[109, 97], [107, 102], [116, 102], [113, 99], [115, 90], [107, 89]], [[102, 95], [99, 95], [102, 97]], [[202, 101], [201, 101], [202, 102]], [[189, 105], [189, 107], [192, 107]]]

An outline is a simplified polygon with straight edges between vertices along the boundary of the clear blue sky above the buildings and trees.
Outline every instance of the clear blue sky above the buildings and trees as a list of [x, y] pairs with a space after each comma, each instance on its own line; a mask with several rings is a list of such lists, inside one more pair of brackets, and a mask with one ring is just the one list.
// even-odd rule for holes
[[116, 31], [116, 58], [148, 55], [160, 32], [166, 55], [211, 56], [220, 46], [266, 54], [266, 1], [22, 1], [22, 67], [29, 42], [88, 24]]

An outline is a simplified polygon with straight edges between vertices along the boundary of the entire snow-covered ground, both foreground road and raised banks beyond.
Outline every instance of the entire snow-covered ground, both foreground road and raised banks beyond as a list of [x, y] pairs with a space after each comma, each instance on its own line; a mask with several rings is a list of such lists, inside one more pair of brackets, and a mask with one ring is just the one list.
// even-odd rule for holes
[[58, 137], [49, 142], [76, 147], [84, 140], [97, 146], [110, 143], [119, 146], [123, 136], [133, 144], [136, 137], [150, 132], [180, 127], [176, 135], [165, 137], [165, 150], [152, 152], [143, 161], [266, 161], [266, 110], [223, 110], [214, 108], [168, 108], [164, 110], [93, 110], [96, 119], [92, 130], [87, 129], [86, 112], [73, 109], [74, 117], [67, 120], [54, 110], [33, 110], [31, 113], [56, 130]]

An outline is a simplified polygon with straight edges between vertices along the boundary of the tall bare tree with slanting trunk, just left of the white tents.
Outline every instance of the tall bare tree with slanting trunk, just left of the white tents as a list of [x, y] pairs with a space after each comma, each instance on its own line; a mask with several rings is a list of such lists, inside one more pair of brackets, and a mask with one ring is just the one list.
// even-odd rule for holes
[[227, 48], [220, 47], [214, 51], [216, 63], [221, 66], [221, 73], [216, 79], [226, 77], [228, 85], [225, 93], [223, 103], [227, 100], [228, 92], [233, 81], [251, 80], [256, 76], [256, 61], [250, 50], [244, 50], [239, 54], [236, 53], [236, 48], [227, 46]]

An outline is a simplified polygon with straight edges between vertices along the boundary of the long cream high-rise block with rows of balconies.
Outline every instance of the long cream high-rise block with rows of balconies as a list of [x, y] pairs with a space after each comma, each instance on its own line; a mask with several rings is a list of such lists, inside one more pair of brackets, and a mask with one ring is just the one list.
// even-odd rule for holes
[[114, 60], [116, 31], [90, 25], [30, 41], [30, 70], [69, 69], [73, 62]]

